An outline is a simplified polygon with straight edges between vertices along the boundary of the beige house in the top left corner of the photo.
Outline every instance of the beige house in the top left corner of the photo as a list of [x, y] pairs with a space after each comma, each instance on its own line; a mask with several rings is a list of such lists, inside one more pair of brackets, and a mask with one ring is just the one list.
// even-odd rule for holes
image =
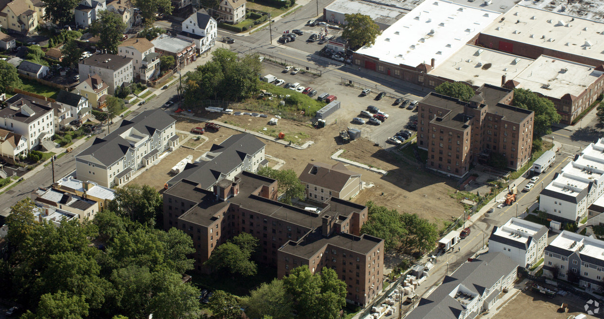
[[36, 30], [38, 25], [38, 14], [30, 0], [15, 0], [9, 2], [0, 10], [0, 24], [3, 28], [29, 35]]

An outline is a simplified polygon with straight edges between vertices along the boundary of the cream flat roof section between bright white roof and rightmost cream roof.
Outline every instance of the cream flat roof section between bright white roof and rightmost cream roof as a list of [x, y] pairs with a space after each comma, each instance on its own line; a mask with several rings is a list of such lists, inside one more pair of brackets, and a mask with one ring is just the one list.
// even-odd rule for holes
[[533, 61], [514, 54], [466, 44], [446, 61], [436, 63], [429, 74], [478, 87], [485, 83], [501, 85], [502, 75], [506, 75], [506, 81], [511, 80]]

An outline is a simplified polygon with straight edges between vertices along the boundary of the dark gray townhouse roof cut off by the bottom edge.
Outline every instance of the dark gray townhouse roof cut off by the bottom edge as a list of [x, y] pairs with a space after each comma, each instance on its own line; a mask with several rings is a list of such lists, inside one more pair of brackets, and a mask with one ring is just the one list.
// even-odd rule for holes
[[449, 294], [458, 285], [482, 294], [517, 267], [518, 264], [501, 252], [490, 252], [481, 255], [480, 259], [463, 263], [451, 276], [445, 276], [443, 283], [431, 295], [422, 298], [406, 319], [457, 319], [464, 307]]

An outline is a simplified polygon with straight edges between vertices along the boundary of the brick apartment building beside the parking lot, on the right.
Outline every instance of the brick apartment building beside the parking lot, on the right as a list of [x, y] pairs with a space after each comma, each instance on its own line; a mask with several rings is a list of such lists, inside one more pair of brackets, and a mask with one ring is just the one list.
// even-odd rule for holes
[[420, 101], [418, 146], [428, 168], [461, 177], [471, 163], [502, 154], [508, 168], [521, 168], [533, 146], [533, 111], [507, 105], [513, 91], [484, 84], [469, 102], [430, 93]]

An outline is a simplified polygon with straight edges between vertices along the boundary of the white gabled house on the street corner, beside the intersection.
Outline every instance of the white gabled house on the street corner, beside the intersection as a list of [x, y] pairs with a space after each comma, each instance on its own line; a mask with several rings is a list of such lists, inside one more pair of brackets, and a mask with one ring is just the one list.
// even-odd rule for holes
[[205, 9], [200, 9], [182, 21], [178, 38], [195, 42], [198, 53], [210, 50], [216, 44], [218, 25]]

